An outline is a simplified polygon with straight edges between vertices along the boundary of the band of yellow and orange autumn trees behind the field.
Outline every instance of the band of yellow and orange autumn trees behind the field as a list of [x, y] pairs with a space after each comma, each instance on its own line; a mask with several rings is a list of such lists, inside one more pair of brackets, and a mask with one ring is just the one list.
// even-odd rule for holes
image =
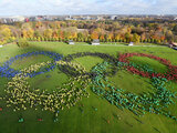
[[177, 41], [177, 23], [136, 21], [37, 21], [0, 24], [0, 44], [19, 38], [29, 41], [135, 42], [166, 44]]

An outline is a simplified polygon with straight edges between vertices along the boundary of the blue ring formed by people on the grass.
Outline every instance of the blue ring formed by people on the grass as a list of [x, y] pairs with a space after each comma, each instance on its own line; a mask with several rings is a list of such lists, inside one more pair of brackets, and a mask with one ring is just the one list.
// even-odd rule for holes
[[17, 60], [22, 60], [24, 58], [29, 58], [32, 55], [46, 55], [49, 58], [51, 58], [53, 60], [53, 63], [51, 63], [51, 65], [49, 65], [48, 68], [41, 68], [40, 71], [38, 72], [33, 72], [33, 73], [29, 73], [29, 76], [35, 76], [38, 74], [51, 71], [55, 68], [55, 61], [59, 61], [63, 58], [63, 55], [55, 53], [55, 52], [50, 52], [50, 51], [34, 51], [34, 52], [28, 52], [28, 53], [23, 53], [23, 54], [19, 54], [15, 55], [13, 58], [10, 58], [8, 61], [6, 61], [1, 66], [0, 66], [0, 76], [1, 78], [13, 78], [15, 74], [20, 73], [20, 70], [14, 70], [12, 68], [10, 68], [10, 65], [17, 61]]

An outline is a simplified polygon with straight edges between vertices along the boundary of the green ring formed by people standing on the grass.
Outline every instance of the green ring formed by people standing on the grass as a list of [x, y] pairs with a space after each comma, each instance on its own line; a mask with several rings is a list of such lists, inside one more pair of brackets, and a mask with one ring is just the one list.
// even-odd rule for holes
[[90, 84], [92, 91], [107, 100], [111, 104], [116, 105], [118, 109], [127, 109], [136, 115], [144, 115], [146, 112], [163, 114], [175, 121], [177, 117], [164, 109], [168, 108], [170, 104], [175, 104], [174, 100], [176, 93], [170, 92], [166, 89], [166, 83], [168, 82], [165, 78], [152, 78], [152, 85], [154, 86], [155, 93], [143, 93], [140, 95], [126, 92], [114, 83], [108, 81], [104, 71], [108, 68], [108, 63], [104, 62], [95, 68], [92, 72], [96, 73], [96, 76], [92, 79]]

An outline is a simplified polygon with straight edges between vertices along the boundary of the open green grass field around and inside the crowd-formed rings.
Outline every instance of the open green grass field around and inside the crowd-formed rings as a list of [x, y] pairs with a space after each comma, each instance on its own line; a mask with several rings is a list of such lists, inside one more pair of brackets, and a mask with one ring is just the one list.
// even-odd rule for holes
[[[167, 60], [177, 65], [177, 52], [165, 47], [114, 47], [114, 45], [69, 45], [59, 42], [31, 42], [29, 48], [20, 49], [15, 44], [6, 45], [0, 49], [0, 64], [9, 58], [17, 54], [22, 54], [29, 51], [52, 51], [63, 55], [77, 52], [102, 52], [117, 57], [118, 53], [139, 52], [150, 53]], [[15, 61], [11, 68], [19, 70], [35, 64], [38, 62], [45, 62], [51, 60], [44, 55], [30, 57], [21, 61]], [[149, 64], [158, 72], [166, 72], [167, 68], [159, 62], [148, 58], [131, 58], [133, 62], [139, 64]], [[84, 57], [74, 59], [72, 62], [80, 63], [86, 71], [90, 71], [97, 63], [103, 62], [103, 59]], [[46, 75], [51, 75], [46, 79]], [[115, 85], [122, 89], [140, 94], [142, 92], [152, 92], [149, 79], [133, 75], [127, 71], [118, 71], [116, 75], [111, 76], [110, 80], [115, 82]], [[4, 88], [8, 79], [0, 78], [0, 95], [4, 95]], [[52, 91], [53, 88], [67, 81], [67, 75], [54, 70], [44, 74], [37, 75], [29, 80], [32, 88], [48, 89]], [[177, 83], [169, 84], [169, 90], [177, 91]], [[53, 113], [48, 111], [27, 110], [13, 112], [12, 109], [6, 108], [4, 101], [0, 102], [3, 111], [0, 112], [0, 133], [176, 133], [177, 123], [164, 115], [146, 113], [146, 115], [138, 117], [128, 110], [119, 110], [110, 104], [106, 100], [102, 100], [95, 95], [90, 89], [90, 98], [83, 98], [76, 106], [70, 110], [65, 109], [59, 113], [59, 122], [53, 122]], [[83, 104], [83, 113], [80, 104]], [[94, 110], [97, 109], [97, 111]], [[170, 105], [168, 109], [177, 116], [177, 104]], [[18, 123], [18, 117], [24, 117], [23, 123]], [[116, 115], [121, 116], [117, 120]], [[44, 121], [38, 122], [37, 117], [41, 116]], [[143, 122], [139, 123], [138, 120]], [[110, 123], [107, 123], [110, 120]], [[155, 129], [158, 129], [155, 130]]]

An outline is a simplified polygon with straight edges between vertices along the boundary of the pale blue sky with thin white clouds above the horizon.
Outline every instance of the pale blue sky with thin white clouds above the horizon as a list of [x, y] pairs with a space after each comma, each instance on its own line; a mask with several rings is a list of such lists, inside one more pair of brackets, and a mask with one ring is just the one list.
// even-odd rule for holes
[[177, 0], [0, 0], [0, 16], [177, 14]]

